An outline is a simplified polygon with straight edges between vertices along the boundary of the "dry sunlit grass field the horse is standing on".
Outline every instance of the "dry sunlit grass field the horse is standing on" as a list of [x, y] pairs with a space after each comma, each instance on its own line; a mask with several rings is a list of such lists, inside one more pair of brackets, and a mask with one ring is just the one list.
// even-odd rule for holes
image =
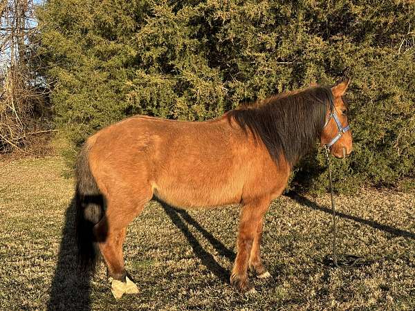
[[176, 211], [151, 202], [129, 227], [127, 269], [140, 294], [115, 301], [104, 265], [75, 274], [73, 180], [62, 159], [0, 162], [1, 310], [414, 310], [415, 193], [336, 197], [340, 252], [371, 265], [337, 270], [329, 196], [290, 194], [266, 215], [257, 294], [229, 285], [237, 207]]

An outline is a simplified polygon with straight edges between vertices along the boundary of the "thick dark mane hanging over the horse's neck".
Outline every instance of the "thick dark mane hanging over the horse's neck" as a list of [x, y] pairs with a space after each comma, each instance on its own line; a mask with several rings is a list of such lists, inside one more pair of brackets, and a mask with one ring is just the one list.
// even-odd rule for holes
[[320, 137], [327, 108], [332, 109], [333, 102], [330, 87], [316, 86], [268, 97], [229, 111], [227, 117], [260, 138], [276, 163], [284, 153], [292, 166]]

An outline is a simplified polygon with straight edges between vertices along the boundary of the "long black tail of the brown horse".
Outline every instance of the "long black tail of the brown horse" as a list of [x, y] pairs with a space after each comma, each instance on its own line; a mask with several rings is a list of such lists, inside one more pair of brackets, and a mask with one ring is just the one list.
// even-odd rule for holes
[[100, 249], [93, 234], [93, 227], [104, 214], [104, 198], [89, 167], [90, 149], [90, 144], [86, 142], [77, 158], [75, 168], [75, 235], [77, 263], [82, 272], [94, 272], [100, 259]]

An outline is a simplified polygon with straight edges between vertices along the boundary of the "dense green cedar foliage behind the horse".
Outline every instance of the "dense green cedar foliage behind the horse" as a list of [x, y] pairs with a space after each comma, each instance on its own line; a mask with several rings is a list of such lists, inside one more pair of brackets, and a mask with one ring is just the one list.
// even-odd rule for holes
[[[412, 1], [49, 0], [39, 10], [55, 121], [79, 146], [133, 114], [206, 120], [241, 102], [352, 78], [354, 153], [338, 190], [411, 186]], [[321, 149], [293, 185], [324, 189]]]

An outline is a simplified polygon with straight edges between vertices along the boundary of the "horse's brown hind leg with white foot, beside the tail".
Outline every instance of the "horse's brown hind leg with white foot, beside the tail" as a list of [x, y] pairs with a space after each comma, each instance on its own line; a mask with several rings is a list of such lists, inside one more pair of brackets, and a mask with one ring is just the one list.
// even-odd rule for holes
[[117, 200], [109, 200], [105, 216], [94, 228], [95, 236], [100, 241], [99, 246], [102, 257], [107, 264], [111, 291], [117, 299], [122, 294], [138, 292], [136, 284], [127, 276], [124, 267], [122, 244], [124, 243], [127, 225], [140, 214], [151, 196], [144, 196], [144, 198], [144, 200], [141, 199], [139, 202], [131, 200], [131, 198], [122, 200], [120, 196], [118, 196]]

